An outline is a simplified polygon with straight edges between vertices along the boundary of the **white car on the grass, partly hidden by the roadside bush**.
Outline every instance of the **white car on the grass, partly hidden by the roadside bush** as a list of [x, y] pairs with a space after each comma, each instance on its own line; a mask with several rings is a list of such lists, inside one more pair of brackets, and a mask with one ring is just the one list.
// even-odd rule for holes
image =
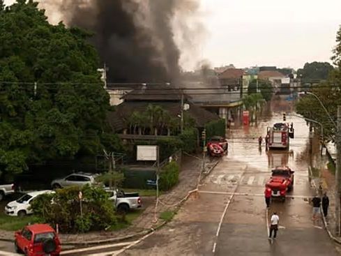
[[32, 214], [33, 211], [31, 210], [31, 202], [33, 199], [38, 197], [38, 195], [43, 194], [51, 194], [55, 193], [53, 190], [40, 190], [40, 191], [33, 191], [30, 193], [24, 194], [19, 199], [9, 202], [5, 206], [5, 212], [8, 216], [18, 216], [23, 217], [27, 214]]

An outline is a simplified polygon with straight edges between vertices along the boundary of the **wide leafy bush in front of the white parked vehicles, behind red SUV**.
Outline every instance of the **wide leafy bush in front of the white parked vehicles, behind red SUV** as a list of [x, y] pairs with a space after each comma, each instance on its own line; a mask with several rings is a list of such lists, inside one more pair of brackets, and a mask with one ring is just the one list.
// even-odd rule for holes
[[82, 214], [78, 187], [56, 190], [54, 195], [41, 195], [31, 204], [36, 216], [44, 223], [59, 225], [61, 232], [89, 232], [103, 230], [116, 224], [114, 203], [103, 188], [81, 188]]

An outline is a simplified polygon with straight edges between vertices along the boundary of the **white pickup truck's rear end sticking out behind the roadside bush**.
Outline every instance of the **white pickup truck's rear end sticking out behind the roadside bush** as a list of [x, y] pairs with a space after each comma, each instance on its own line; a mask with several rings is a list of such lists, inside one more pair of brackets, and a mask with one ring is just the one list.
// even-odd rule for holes
[[117, 211], [127, 212], [130, 209], [137, 209], [142, 206], [139, 193], [124, 193], [123, 190], [105, 189], [109, 194], [109, 199], [115, 202]]

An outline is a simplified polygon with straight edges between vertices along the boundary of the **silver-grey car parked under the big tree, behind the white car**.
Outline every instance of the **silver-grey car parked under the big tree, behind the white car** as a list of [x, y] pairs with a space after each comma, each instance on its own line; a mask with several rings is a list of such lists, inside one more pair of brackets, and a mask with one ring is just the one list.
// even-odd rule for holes
[[93, 185], [96, 184], [96, 176], [98, 174], [91, 174], [86, 172], [76, 172], [70, 174], [62, 179], [55, 179], [51, 182], [53, 189], [66, 188], [70, 186], [84, 186], [86, 184]]

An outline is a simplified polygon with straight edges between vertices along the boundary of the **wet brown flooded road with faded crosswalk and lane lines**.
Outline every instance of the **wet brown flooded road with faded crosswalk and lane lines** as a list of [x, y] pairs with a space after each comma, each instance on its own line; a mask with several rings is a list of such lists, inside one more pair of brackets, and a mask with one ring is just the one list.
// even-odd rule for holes
[[[278, 113], [257, 128], [232, 130], [228, 156], [200, 186], [199, 196], [185, 202], [167, 227], [122, 255], [339, 255], [338, 246], [311, 220], [305, 121], [287, 117], [296, 128], [289, 152], [258, 148], [257, 137], [281, 119]], [[271, 168], [277, 165], [295, 170], [295, 183], [285, 203], [271, 204], [268, 215], [277, 211], [281, 226], [278, 239], [271, 241], [263, 192]]]

